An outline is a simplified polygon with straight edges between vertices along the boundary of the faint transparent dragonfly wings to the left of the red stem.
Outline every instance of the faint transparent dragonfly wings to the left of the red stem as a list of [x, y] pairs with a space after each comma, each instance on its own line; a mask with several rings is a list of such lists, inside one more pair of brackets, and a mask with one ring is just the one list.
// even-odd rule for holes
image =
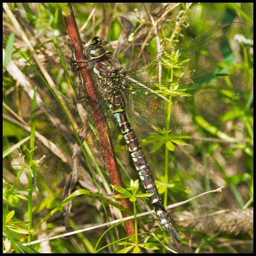
[[[71, 169], [66, 166], [62, 167], [60, 169], [61, 171], [58, 173], [57, 171], [49, 173], [49, 170], [57, 170], [57, 167], [54, 167], [55, 158], [52, 158], [52, 155], [49, 155], [48, 153], [43, 165], [51, 166], [51, 168], [43, 168], [42, 173], [44, 174], [48, 185], [51, 188], [55, 188], [58, 183], [65, 180], [70, 175], [71, 170], [74, 171], [79, 169], [77, 171], [77, 179], [79, 182], [83, 182], [87, 188], [88, 186], [92, 187], [93, 182], [88, 182], [90, 178], [92, 179], [89, 174], [90, 169], [88, 164], [94, 166], [94, 160], [89, 158], [90, 163], [86, 162], [81, 146], [79, 146], [76, 133], [78, 134], [81, 142], [85, 142], [87, 150], [91, 151], [94, 155], [94, 159], [97, 159], [98, 166], [100, 166], [102, 170], [105, 169], [105, 162], [102, 157], [98, 132], [94, 125], [94, 118], [99, 115], [98, 110], [91, 109], [85, 94], [71, 94], [68, 97], [61, 99], [60, 102], [63, 103], [63, 105], [66, 105], [68, 109], [68, 116], [73, 122], [75, 122], [76, 125], [73, 123], [73, 127], [76, 127], [76, 130], [73, 130], [67, 116], [63, 113], [59, 103], [56, 101], [49, 101], [49, 103], [44, 105], [43, 109], [37, 109], [35, 111], [39, 124], [37, 125], [37, 130], [41, 134], [50, 134], [50, 137], [48, 136], [47, 139], [54, 142], [57, 146], [49, 149], [54, 155], [58, 156], [63, 162], [71, 167]], [[114, 138], [116, 138], [116, 123], [112, 121], [114, 117], [109, 113], [106, 101], [101, 99], [98, 103], [98, 107], [102, 109], [103, 113], [105, 113], [107, 122], [111, 127], [110, 130], [112, 131]], [[109, 121], [110, 119], [111, 121]], [[67, 158], [63, 157], [63, 155], [67, 155]], [[79, 166], [76, 165], [78, 167], [74, 168], [74, 159], [76, 158], [79, 159], [80, 164]], [[95, 175], [97, 178], [97, 172], [95, 172]], [[69, 180], [68, 182], [71, 181]], [[93, 189], [91, 190], [93, 191]]]

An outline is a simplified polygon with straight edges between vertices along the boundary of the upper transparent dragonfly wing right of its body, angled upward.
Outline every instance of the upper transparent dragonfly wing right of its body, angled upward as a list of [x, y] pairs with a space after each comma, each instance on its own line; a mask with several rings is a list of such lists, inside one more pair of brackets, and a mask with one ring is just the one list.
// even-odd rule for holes
[[[206, 33], [191, 39], [185, 44], [150, 55], [127, 68], [126, 75], [143, 83], [146, 74], [158, 76], [159, 62], [172, 67], [193, 69], [193, 74], [210, 73], [216, 64], [234, 58], [233, 51], [238, 46], [234, 36], [243, 29], [243, 23], [232, 22], [220, 25]], [[188, 72], [188, 71], [187, 71]], [[165, 75], [165, 74], [163, 74]], [[191, 74], [187, 74], [191, 75]], [[158, 78], [157, 78], [158, 80]]]

